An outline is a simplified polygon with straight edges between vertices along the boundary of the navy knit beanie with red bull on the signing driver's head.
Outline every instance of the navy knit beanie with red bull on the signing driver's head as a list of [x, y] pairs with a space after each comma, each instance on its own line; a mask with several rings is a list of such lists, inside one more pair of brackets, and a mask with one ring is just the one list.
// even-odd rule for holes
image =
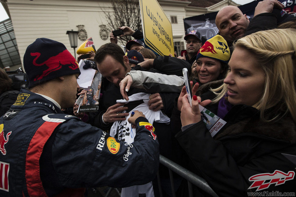
[[76, 59], [65, 45], [48, 38], [37, 38], [27, 47], [24, 68], [29, 88], [60, 76], [80, 74]]

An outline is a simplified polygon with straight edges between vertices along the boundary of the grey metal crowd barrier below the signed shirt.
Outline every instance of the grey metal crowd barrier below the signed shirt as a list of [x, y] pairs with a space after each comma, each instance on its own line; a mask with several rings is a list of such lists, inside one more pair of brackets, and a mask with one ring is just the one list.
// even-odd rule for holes
[[[159, 157], [159, 162], [169, 169], [173, 197], [175, 197], [176, 194], [175, 194], [175, 189], [174, 189], [172, 171], [174, 171], [175, 173], [182, 176], [184, 179], [186, 179], [188, 181], [188, 190], [189, 190], [190, 197], [193, 196], [191, 183], [196, 185], [197, 187], [199, 187], [203, 191], [207, 192], [208, 194], [218, 197], [218, 195], [214, 192], [214, 190], [212, 188], [210, 188], [210, 186], [205, 181], [205, 179], [202, 179], [200, 176], [190, 172], [189, 170], [185, 169], [181, 165], [178, 165], [175, 162], [172, 162], [171, 160], [167, 159], [166, 157], [164, 157], [162, 155], [160, 155], [160, 157]], [[159, 191], [161, 192], [161, 188], [159, 189]]]

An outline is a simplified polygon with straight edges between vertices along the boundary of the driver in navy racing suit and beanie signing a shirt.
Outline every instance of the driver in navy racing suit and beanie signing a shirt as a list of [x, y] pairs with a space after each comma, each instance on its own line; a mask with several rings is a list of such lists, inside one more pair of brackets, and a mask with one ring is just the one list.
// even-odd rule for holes
[[0, 118], [0, 196], [83, 196], [86, 187], [128, 187], [155, 178], [158, 141], [145, 115], [135, 111], [134, 142], [66, 115], [80, 70], [66, 47], [47, 38], [28, 46], [22, 89]]

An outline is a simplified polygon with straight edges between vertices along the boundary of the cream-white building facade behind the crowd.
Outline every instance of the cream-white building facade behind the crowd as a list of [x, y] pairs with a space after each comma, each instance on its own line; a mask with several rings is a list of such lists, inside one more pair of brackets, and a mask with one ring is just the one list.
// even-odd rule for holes
[[[158, 2], [172, 22], [174, 45], [179, 49], [184, 49], [185, 45], [183, 18], [215, 12], [226, 5], [237, 5], [231, 0], [222, 0], [207, 8], [190, 6], [191, 2], [187, 0]], [[21, 61], [27, 46], [42, 37], [62, 42], [74, 55], [66, 31], [78, 31], [77, 25], [84, 25], [87, 38], [93, 38], [96, 48], [110, 42], [109, 36], [106, 39], [104, 26], [101, 26], [107, 25], [103, 10], [112, 12], [108, 0], [4, 0], [2, 4], [12, 20]], [[103, 36], [100, 36], [100, 31]], [[78, 46], [83, 42], [78, 39]]]

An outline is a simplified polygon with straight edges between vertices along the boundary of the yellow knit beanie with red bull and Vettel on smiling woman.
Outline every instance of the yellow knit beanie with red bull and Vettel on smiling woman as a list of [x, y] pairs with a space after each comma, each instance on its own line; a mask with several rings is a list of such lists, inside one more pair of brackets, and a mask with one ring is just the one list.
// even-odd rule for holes
[[209, 38], [199, 49], [196, 59], [200, 57], [213, 58], [228, 63], [230, 59], [230, 50], [226, 40], [221, 35], [215, 35], [212, 38]]

